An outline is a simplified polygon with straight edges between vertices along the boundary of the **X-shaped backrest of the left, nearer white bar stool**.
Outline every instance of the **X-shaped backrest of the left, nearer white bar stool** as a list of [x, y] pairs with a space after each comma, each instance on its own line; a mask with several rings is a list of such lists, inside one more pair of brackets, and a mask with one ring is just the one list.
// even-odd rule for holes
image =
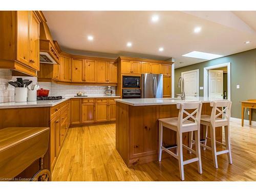
[[[195, 123], [198, 126], [200, 126], [200, 118], [201, 118], [201, 110], [202, 110], [201, 102], [179, 102], [177, 103], [177, 109], [179, 109], [178, 124], [177, 124], [178, 129], [179, 127], [182, 129], [183, 122], [185, 120], [189, 120], [189, 118], [193, 119]], [[194, 110], [194, 111], [192, 113], [188, 113], [186, 110]], [[183, 118], [184, 114], [187, 115], [185, 118]]]

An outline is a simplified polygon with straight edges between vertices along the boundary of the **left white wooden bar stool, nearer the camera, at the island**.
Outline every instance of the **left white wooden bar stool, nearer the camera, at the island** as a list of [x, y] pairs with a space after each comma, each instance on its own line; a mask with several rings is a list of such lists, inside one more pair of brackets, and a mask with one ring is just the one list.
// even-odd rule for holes
[[[177, 109], [179, 109], [179, 116], [173, 118], [158, 119], [159, 121], [159, 153], [158, 160], [162, 160], [162, 150], [172, 155], [179, 160], [180, 178], [184, 180], [184, 168], [183, 166], [188, 163], [198, 161], [198, 173], [202, 174], [202, 162], [200, 152], [200, 116], [202, 103], [200, 102], [183, 102], [177, 103]], [[194, 110], [192, 113], [188, 113], [186, 110]], [[183, 116], [186, 116], [183, 118]], [[195, 116], [194, 116], [195, 115]], [[190, 118], [190, 120], [188, 120]], [[163, 143], [163, 126], [177, 132], [177, 154], [168, 150], [168, 148], [162, 145]], [[182, 133], [195, 131], [195, 143], [196, 151], [182, 144]], [[182, 147], [196, 154], [196, 158], [183, 161]]]

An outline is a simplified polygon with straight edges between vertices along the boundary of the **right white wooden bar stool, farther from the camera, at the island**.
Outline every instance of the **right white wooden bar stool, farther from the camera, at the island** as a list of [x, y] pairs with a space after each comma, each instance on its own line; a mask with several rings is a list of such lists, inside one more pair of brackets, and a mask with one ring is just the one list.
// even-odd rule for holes
[[[201, 124], [206, 125], [205, 139], [200, 143], [203, 147], [203, 150], [207, 148], [211, 150], [212, 158], [214, 159], [214, 167], [218, 168], [217, 155], [227, 153], [228, 162], [232, 164], [231, 157], [231, 147], [230, 147], [230, 137], [229, 137], [229, 119], [230, 119], [230, 110], [231, 110], [231, 101], [212, 101], [210, 106], [212, 106], [211, 115], [201, 115]], [[218, 108], [223, 108], [220, 110]], [[222, 115], [222, 118], [219, 116]], [[210, 127], [210, 138], [208, 137], [208, 126]], [[219, 141], [216, 141], [216, 132], [215, 128], [218, 126], [224, 126], [225, 129], [225, 144]], [[189, 135], [189, 147], [192, 148], [195, 140], [193, 140], [193, 132]], [[207, 139], [211, 140], [211, 147], [207, 146]], [[226, 150], [218, 151], [216, 150], [216, 143], [226, 147]]]

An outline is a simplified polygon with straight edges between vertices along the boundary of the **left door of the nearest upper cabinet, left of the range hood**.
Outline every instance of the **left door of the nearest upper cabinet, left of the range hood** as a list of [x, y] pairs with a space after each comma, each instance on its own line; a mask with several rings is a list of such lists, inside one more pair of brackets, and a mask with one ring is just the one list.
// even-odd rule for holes
[[17, 11], [17, 60], [30, 66], [29, 11]]

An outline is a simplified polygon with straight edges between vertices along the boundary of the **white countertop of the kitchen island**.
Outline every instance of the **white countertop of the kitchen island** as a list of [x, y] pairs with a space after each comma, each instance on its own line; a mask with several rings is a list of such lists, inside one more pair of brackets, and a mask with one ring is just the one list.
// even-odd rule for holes
[[210, 101], [224, 101], [221, 98], [208, 97], [188, 97], [185, 100], [172, 98], [145, 98], [145, 99], [115, 99], [117, 102], [129, 104], [132, 106], [146, 106], [146, 105], [163, 105], [163, 104], [177, 104], [177, 102], [210, 102]]

